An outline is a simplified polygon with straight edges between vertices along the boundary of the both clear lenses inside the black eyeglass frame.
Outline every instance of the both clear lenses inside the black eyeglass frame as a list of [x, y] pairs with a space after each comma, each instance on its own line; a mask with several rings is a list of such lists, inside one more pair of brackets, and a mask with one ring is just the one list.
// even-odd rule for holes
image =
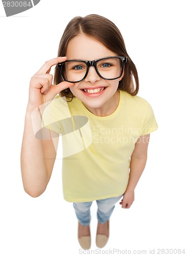
[[[105, 79], [114, 79], [121, 75], [120, 58], [105, 58], [96, 63], [97, 72]], [[87, 65], [83, 61], [71, 60], [64, 62], [63, 74], [69, 81], [82, 80], [87, 72]]]

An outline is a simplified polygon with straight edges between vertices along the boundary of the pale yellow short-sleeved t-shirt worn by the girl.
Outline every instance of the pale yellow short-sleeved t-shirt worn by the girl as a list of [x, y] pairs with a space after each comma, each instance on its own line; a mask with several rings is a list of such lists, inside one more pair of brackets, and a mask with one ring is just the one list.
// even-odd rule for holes
[[157, 129], [150, 104], [120, 91], [116, 111], [92, 114], [78, 98], [57, 96], [43, 113], [43, 126], [62, 134], [63, 196], [68, 202], [88, 202], [124, 194], [130, 156], [142, 135]]

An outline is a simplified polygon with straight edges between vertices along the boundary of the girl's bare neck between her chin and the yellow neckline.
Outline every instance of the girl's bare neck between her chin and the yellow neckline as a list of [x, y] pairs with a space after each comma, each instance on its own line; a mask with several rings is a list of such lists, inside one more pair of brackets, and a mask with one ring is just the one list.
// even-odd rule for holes
[[119, 100], [120, 100], [120, 93], [119, 91], [116, 91], [116, 93], [99, 108], [90, 108], [89, 106], [86, 106], [86, 105], [85, 107], [95, 116], [109, 116], [112, 113], [114, 113], [115, 110], [117, 109]]

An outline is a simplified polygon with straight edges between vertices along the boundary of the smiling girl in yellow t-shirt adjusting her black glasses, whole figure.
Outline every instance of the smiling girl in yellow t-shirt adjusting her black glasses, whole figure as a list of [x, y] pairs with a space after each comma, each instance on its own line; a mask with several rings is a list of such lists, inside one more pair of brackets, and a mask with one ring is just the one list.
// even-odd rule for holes
[[[55, 65], [53, 85], [49, 72]], [[109, 239], [115, 204], [122, 198], [122, 208], [129, 208], [134, 201], [149, 134], [157, 129], [138, 90], [138, 73], [120, 31], [99, 15], [73, 18], [58, 57], [31, 79], [21, 149], [24, 190], [32, 197], [44, 192], [62, 134], [63, 195], [73, 202], [84, 249], [91, 246], [92, 201], [98, 206], [99, 248]]]

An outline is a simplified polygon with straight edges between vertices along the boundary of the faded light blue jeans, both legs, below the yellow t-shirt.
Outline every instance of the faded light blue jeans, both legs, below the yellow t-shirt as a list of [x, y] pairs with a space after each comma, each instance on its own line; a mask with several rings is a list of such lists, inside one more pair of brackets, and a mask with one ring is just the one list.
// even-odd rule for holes
[[[99, 223], [103, 224], [108, 221], [112, 215], [115, 204], [122, 197], [112, 197], [102, 200], [96, 200], [97, 203], [97, 220]], [[83, 203], [73, 203], [73, 207], [75, 210], [76, 217], [78, 221], [87, 226], [90, 224], [91, 216], [90, 216], [90, 207], [92, 202], [83, 202]]]

